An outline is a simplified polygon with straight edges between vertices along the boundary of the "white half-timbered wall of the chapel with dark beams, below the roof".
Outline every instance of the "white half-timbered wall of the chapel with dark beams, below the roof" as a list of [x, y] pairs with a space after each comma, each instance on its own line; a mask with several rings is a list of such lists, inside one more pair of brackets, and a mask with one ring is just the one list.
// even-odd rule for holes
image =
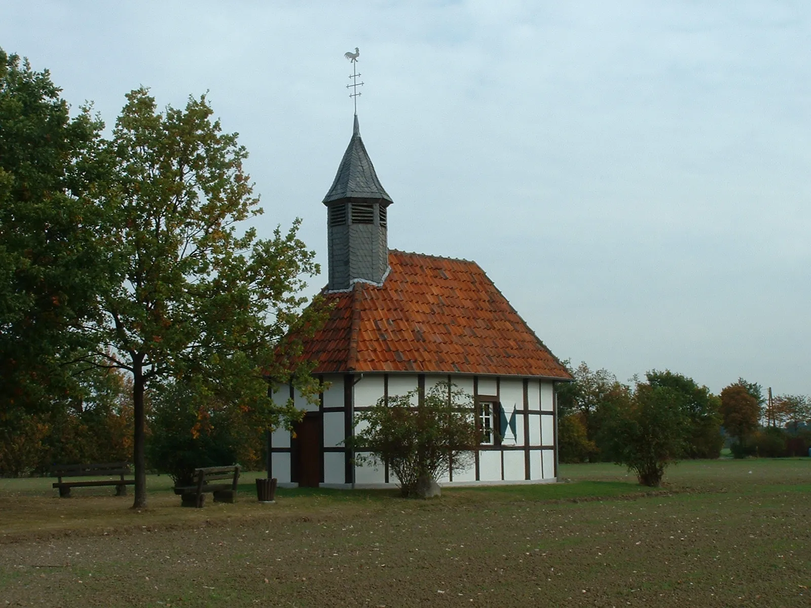
[[[556, 479], [556, 407], [551, 381], [516, 377], [471, 375], [371, 374], [324, 375], [328, 388], [319, 404], [307, 404], [298, 392], [283, 387], [274, 399], [293, 398], [302, 409], [318, 412], [323, 429], [322, 457], [324, 486], [375, 487], [397, 482], [384, 463], [354, 462], [354, 453], [342, 443], [347, 431], [360, 429], [358, 414], [380, 400], [413, 392], [427, 392], [448, 379], [472, 397], [495, 397], [508, 420], [514, 418], [516, 432], [508, 432], [495, 445], [473, 452], [470, 465], [454, 464], [440, 481], [443, 484], [550, 482]], [[345, 405], [349, 405], [347, 411]], [[271, 437], [271, 474], [282, 484], [291, 479], [290, 432], [277, 430]]]

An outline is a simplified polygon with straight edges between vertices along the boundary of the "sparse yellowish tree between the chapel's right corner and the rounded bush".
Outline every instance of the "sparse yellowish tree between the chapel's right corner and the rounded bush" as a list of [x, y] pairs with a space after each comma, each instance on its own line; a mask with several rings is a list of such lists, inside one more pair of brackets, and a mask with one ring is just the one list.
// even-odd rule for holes
[[[564, 365], [569, 367], [569, 362]], [[570, 370], [574, 381], [557, 385], [557, 403], [560, 417], [576, 413], [586, 427], [586, 439], [596, 449], [590, 452], [590, 460], [609, 457], [603, 444], [603, 422], [607, 410], [622, 402], [628, 387], [621, 384], [608, 370], [590, 370], [586, 362]]]

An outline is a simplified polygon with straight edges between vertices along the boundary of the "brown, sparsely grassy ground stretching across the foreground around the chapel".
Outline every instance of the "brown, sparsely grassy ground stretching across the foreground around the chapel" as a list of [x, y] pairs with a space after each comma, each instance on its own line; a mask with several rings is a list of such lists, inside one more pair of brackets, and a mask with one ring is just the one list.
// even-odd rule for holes
[[[181, 510], [156, 493], [135, 514], [129, 499], [60, 501], [2, 480], [0, 606], [811, 606], [811, 460], [684, 463], [657, 495], [611, 465], [561, 477], [591, 497], [324, 492]], [[616, 482], [637, 494], [616, 496]], [[124, 511], [124, 524], [14, 525], [26, 504], [61, 519], [60, 503]]]

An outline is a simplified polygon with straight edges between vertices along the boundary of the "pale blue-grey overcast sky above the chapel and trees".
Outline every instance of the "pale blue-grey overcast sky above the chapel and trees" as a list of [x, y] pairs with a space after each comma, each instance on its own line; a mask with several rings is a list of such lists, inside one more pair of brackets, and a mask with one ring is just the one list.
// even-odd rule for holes
[[238, 131], [324, 266], [358, 118], [389, 246], [474, 259], [559, 358], [811, 393], [809, 2], [3, 2], [112, 125], [143, 84]]

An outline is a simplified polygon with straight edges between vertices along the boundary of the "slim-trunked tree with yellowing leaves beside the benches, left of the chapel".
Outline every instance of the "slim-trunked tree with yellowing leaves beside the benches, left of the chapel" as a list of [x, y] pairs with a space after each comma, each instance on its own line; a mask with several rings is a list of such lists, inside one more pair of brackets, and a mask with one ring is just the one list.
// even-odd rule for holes
[[114, 281], [100, 298], [103, 322], [91, 328], [100, 345], [93, 356], [132, 375], [133, 506], [143, 507], [152, 383], [182, 379], [266, 426], [298, 416], [290, 403], [273, 405], [268, 379], [315, 391], [309, 367], [291, 363], [300, 344], [275, 346], [317, 326], [318, 306], [302, 313], [298, 294], [303, 274], [318, 267], [296, 236], [298, 221], [270, 239], [238, 229], [261, 212], [242, 167], [247, 151], [212, 120], [205, 96], [161, 113], [146, 89], [128, 93], [108, 150], [115, 172], [102, 200]]

